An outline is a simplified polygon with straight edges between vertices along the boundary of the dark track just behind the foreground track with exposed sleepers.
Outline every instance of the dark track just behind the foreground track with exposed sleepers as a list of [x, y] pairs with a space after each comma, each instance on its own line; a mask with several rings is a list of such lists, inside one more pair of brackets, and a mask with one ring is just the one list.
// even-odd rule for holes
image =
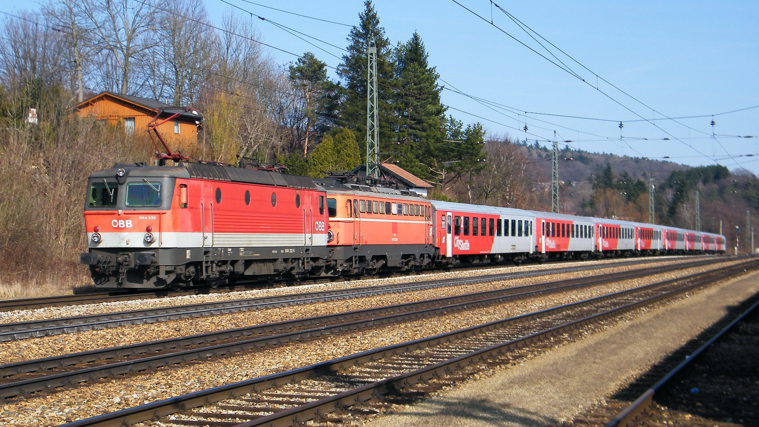
[[[61, 387], [82, 381], [91, 381], [99, 378], [108, 378], [129, 372], [139, 372], [145, 369], [155, 369], [172, 363], [184, 363], [188, 360], [203, 359], [212, 356], [222, 356], [251, 348], [260, 349], [271, 344], [279, 344], [287, 341], [301, 341], [314, 338], [322, 334], [340, 331], [355, 330], [358, 328], [376, 327], [387, 323], [398, 322], [404, 319], [414, 319], [422, 316], [438, 316], [445, 312], [456, 309], [469, 309], [475, 306], [485, 306], [494, 303], [502, 303], [506, 300], [524, 299], [535, 297], [540, 294], [557, 293], [580, 287], [591, 287], [611, 281], [622, 281], [641, 276], [660, 274], [671, 270], [692, 268], [703, 265], [704, 262], [691, 262], [686, 265], [669, 265], [666, 267], [648, 267], [628, 272], [617, 272], [611, 275], [591, 276], [589, 278], [565, 279], [563, 281], [550, 281], [542, 284], [531, 284], [520, 287], [508, 287], [497, 290], [486, 290], [471, 294], [455, 295], [433, 300], [416, 301], [412, 303], [395, 304], [372, 309], [354, 310], [334, 315], [313, 316], [305, 319], [294, 319], [283, 322], [275, 322], [265, 325], [256, 325], [244, 328], [234, 328], [225, 331], [214, 331], [205, 334], [196, 334], [188, 337], [169, 338], [160, 341], [151, 341], [139, 344], [130, 344], [120, 347], [111, 347], [87, 352], [50, 356], [43, 359], [33, 359], [17, 363], [0, 365], [0, 397], [8, 398], [19, 394], [26, 394], [46, 388]], [[308, 328], [308, 329], [305, 329]], [[276, 331], [285, 333], [263, 336]], [[255, 338], [247, 338], [258, 335]], [[219, 343], [222, 344], [208, 344]], [[192, 347], [190, 350], [175, 350], [164, 353], [165, 350], [178, 349], [180, 347]], [[145, 353], [158, 353], [153, 356], [144, 356]], [[138, 356], [139, 359], [131, 359]], [[124, 360], [124, 358], [127, 360]], [[121, 359], [113, 363], [110, 359]], [[99, 366], [91, 366], [101, 362]], [[77, 364], [87, 364], [84, 368], [75, 367]], [[46, 375], [44, 371], [55, 369], [72, 369], [69, 372], [56, 372]], [[28, 378], [28, 373], [41, 373], [35, 378]], [[21, 375], [17, 381], [13, 381], [13, 375]]]

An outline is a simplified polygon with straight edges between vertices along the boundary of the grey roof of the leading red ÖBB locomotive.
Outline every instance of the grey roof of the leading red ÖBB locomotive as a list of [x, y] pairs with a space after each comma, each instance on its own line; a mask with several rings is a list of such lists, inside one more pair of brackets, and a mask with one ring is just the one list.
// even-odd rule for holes
[[213, 181], [231, 181], [276, 187], [303, 188], [307, 190], [320, 189], [309, 177], [190, 162], [181, 162], [178, 166], [146, 166], [136, 163], [116, 163], [113, 165], [113, 168], [93, 172], [93, 174], [90, 174], [90, 178], [113, 178], [116, 176], [116, 171], [119, 168], [124, 168], [127, 171], [127, 176], [136, 174], [140, 177], [192, 177]]

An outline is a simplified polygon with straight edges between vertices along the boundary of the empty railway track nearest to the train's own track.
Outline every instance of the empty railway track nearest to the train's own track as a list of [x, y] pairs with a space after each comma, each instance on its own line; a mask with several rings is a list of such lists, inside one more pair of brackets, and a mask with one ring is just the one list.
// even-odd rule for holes
[[[700, 263], [724, 262], [730, 258], [707, 258], [694, 261]], [[650, 262], [657, 262], [652, 260]], [[686, 265], [693, 265], [690, 262]], [[648, 263], [648, 262], [646, 262]], [[154, 309], [138, 309], [123, 312], [110, 312], [87, 316], [73, 316], [58, 319], [41, 319], [29, 322], [0, 324], [0, 341], [13, 341], [25, 338], [44, 337], [66, 334], [76, 331], [112, 328], [122, 325], [139, 325], [144, 323], [165, 322], [173, 319], [188, 319], [203, 316], [242, 312], [256, 309], [291, 306], [303, 303], [317, 303], [348, 298], [371, 297], [381, 294], [408, 292], [413, 290], [450, 287], [462, 284], [475, 284], [486, 281], [504, 281], [515, 278], [528, 278], [542, 275], [556, 275], [582, 272], [605, 268], [617, 268], [624, 265], [636, 265], [639, 262], [615, 262], [609, 265], [582, 265], [575, 267], [550, 268], [532, 272], [509, 272], [494, 275], [482, 275], [469, 278], [448, 278], [433, 281], [416, 281], [401, 284], [386, 284], [371, 287], [357, 287], [341, 290], [325, 290], [306, 294], [288, 294], [272, 297], [258, 297], [243, 300], [227, 300], [211, 303], [198, 303], [183, 306], [167, 306]]]

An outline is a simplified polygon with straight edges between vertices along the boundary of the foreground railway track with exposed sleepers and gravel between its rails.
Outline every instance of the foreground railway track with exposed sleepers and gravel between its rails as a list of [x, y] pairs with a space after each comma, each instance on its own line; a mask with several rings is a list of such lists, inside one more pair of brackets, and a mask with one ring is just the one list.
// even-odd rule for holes
[[586, 327], [757, 268], [754, 260], [365, 351], [288, 372], [197, 391], [66, 424], [294, 425], [351, 422], [468, 378], [478, 364], [508, 363], [518, 349], [552, 347]]

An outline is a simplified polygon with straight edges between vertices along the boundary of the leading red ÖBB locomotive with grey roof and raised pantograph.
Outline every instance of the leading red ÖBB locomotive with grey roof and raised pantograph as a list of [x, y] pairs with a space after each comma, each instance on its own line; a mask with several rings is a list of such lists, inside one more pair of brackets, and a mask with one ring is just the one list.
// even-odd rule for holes
[[90, 175], [84, 223], [102, 287], [313, 275], [326, 265], [324, 190], [307, 177], [202, 163]]

